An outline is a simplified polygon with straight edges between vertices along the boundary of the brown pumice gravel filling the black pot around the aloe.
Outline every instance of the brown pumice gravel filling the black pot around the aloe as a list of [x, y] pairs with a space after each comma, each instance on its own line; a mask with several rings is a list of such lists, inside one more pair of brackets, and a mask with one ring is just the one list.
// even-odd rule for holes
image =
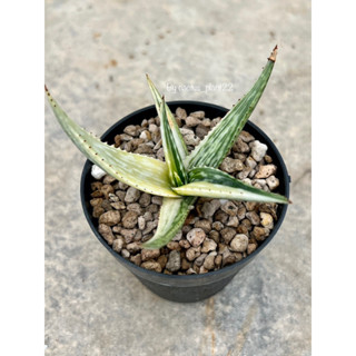
[[[191, 151], [221, 118], [204, 111], [176, 110], [176, 119]], [[165, 160], [159, 118], [129, 125], [115, 138], [116, 147]], [[267, 191], [278, 192], [277, 167], [267, 146], [241, 131], [219, 169]], [[169, 275], [205, 274], [241, 260], [266, 239], [277, 220], [277, 204], [199, 198], [182, 229], [160, 249], [141, 249], [156, 231], [162, 198], [139, 191], [106, 175], [91, 184], [92, 215], [99, 233], [123, 258], [142, 268]]]

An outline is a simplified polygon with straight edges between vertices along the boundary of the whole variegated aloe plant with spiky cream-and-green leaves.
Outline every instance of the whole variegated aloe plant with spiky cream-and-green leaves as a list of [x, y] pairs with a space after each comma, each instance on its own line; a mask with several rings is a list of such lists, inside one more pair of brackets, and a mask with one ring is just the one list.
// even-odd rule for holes
[[160, 118], [165, 162], [101, 142], [75, 123], [46, 88], [59, 123], [88, 159], [118, 180], [164, 197], [156, 234], [142, 244], [144, 248], [160, 248], [167, 245], [184, 225], [197, 197], [288, 204], [284, 196], [254, 188], [217, 169], [261, 97], [276, 55], [277, 47], [254, 87], [190, 154], [165, 98], [147, 76]]

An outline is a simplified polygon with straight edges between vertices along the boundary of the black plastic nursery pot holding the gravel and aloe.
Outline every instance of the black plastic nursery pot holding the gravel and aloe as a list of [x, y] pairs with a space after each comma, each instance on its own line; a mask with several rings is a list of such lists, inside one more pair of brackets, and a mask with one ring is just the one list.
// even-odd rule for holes
[[[206, 117], [216, 118], [224, 117], [228, 109], [198, 101], [170, 101], [168, 102], [169, 108], [172, 112], [178, 107], [187, 110], [187, 112], [204, 110]], [[140, 125], [144, 119], [150, 119], [157, 116], [156, 108], [154, 106], [137, 110], [117, 123], [112, 125], [101, 137], [103, 141], [113, 144], [113, 138], [118, 134], [122, 134], [123, 129], [128, 125]], [[277, 177], [279, 179], [279, 191], [280, 194], [289, 197], [289, 176], [287, 172], [286, 165], [277, 150], [276, 146], [263, 132], [256, 125], [248, 121], [245, 129], [255, 136], [260, 142], [268, 146], [268, 155], [273, 158], [274, 164], [278, 167]], [[117, 254], [110, 245], [100, 236], [98, 233], [98, 219], [91, 215], [91, 206], [89, 200], [91, 199], [90, 184], [95, 180], [91, 177], [92, 164], [87, 160], [81, 175], [80, 194], [81, 204], [86, 215], [86, 218], [99, 241], [107, 248], [107, 250], [126, 268], [128, 268], [148, 289], [157, 294], [158, 296], [180, 303], [198, 301], [211, 297], [219, 290], [221, 290], [235, 275], [245, 266], [247, 266], [275, 237], [277, 234], [287, 211], [287, 205], [279, 205], [277, 209], [278, 220], [275, 224], [270, 235], [259, 245], [259, 247], [249, 256], [235, 263], [230, 266], [226, 266], [219, 270], [209, 271], [202, 275], [165, 275], [152, 270], [141, 268], [131, 261], [125, 259], [121, 255]]]

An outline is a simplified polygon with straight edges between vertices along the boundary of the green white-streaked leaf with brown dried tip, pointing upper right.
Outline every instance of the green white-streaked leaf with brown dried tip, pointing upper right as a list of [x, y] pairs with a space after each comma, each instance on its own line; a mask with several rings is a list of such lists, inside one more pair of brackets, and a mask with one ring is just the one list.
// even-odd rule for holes
[[277, 46], [250, 91], [227, 112], [222, 120], [186, 157], [186, 167], [190, 169], [204, 166], [216, 168], [221, 164], [260, 99], [273, 71], [276, 56]]

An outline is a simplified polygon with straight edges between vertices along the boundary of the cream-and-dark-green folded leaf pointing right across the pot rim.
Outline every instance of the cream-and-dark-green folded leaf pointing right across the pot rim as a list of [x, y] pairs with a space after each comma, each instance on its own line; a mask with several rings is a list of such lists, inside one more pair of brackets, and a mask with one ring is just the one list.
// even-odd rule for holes
[[182, 196], [196, 196], [243, 201], [288, 204], [288, 198], [251, 187], [228, 174], [210, 168], [195, 168], [188, 172], [190, 184], [172, 188]]

